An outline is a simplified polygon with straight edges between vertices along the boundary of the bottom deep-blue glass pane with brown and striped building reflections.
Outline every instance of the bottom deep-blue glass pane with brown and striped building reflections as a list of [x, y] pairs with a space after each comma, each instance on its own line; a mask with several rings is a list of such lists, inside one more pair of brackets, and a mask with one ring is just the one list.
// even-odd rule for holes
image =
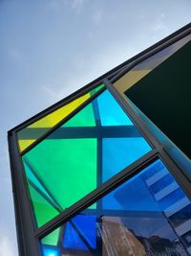
[[55, 246], [41, 241], [43, 256], [191, 255], [191, 203], [156, 160], [60, 230]]

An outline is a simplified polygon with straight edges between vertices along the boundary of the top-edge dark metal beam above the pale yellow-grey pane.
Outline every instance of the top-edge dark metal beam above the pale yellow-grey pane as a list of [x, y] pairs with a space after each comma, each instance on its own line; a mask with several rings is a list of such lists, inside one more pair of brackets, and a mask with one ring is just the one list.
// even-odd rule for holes
[[136, 58], [134, 61], [132, 61], [132, 63], [130, 63], [130, 65], [128, 65], [127, 67], [124, 67], [124, 69], [122, 69], [119, 73], [117, 73], [117, 75], [114, 78], [112, 78], [110, 81], [113, 82], [113, 83], [118, 81], [121, 77], [123, 77], [125, 74], [127, 74], [131, 69], [133, 69], [135, 66], [137, 66], [140, 62], [142, 62], [145, 59], [150, 58], [150, 57], [158, 54], [160, 51], [162, 51], [165, 48], [167, 48], [168, 46], [178, 42], [183, 37], [185, 37], [187, 35], [190, 35], [190, 33], [191, 33], [191, 27], [189, 27], [186, 31], [182, 31], [178, 35], [174, 35], [174, 36], [170, 35], [171, 38], [168, 38], [164, 42], [161, 42], [155, 48], [153, 48], [153, 47], [151, 47], [151, 49], [148, 48], [145, 53], [144, 52], [142, 52], [142, 54], [140, 53], [141, 55], [138, 58]]

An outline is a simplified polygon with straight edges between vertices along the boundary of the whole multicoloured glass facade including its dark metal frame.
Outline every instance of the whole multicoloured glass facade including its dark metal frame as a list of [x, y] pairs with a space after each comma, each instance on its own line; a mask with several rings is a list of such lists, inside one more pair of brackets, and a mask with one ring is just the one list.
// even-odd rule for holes
[[159, 140], [145, 122], [154, 111], [191, 143], [179, 111], [189, 105], [191, 36], [179, 33], [11, 129], [20, 256], [191, 255], [191, 164], [178, 144], [169, 153], [173, 132]]

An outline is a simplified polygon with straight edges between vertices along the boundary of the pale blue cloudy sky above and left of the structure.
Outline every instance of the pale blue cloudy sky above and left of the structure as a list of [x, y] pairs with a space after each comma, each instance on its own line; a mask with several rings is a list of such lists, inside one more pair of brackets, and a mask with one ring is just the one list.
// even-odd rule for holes
[[18, 255], [7, 131], [190, 21], [190, 0], [0, 0], [0, 256]]

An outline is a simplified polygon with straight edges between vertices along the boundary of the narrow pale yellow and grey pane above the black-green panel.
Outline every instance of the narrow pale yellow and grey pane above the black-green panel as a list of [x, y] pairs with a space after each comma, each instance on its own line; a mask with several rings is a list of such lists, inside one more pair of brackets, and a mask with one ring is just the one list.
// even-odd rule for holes
[[167, 58], [171, 57], [174, 53], [176, 53], [190, 39], [191, 35], [187, 35], [184, 38], [180, 39], [178, 42], [160, 51], [158, 54], [150, 58], [147, 58], [144, 61], [141, 61], [137, 66], [132, 68], [124, 76], [118, 79], [114, 83], [114, 86], [121, 94], [123, 94], [127, 89], [131, 88], [136, 82], [141, 80], [153, 69], [159, 66], [159, 64], [161, 64], [164, 60], [166, 60]]

